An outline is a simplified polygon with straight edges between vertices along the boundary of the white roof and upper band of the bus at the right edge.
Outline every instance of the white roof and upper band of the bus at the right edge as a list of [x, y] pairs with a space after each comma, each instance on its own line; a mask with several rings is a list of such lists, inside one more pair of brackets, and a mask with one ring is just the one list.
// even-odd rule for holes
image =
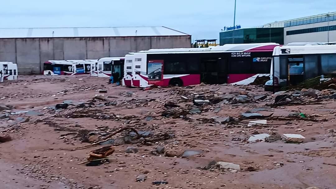
[[273, 56], [329, 53], [336, 53], [336, 45], [279, 46], [274, 48]]

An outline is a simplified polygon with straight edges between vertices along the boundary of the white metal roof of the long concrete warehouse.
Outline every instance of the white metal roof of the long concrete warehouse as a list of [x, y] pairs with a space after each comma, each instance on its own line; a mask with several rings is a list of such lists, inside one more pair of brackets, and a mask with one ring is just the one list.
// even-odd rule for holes
[[189, 36], [165, 26], [0, 28], [0, 38]]

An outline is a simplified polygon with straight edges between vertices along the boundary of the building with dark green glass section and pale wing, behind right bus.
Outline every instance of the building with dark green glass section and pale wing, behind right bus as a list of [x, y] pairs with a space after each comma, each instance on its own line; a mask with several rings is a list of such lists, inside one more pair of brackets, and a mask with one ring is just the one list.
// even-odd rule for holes
[[[279, 33], [283, 30], [282, 33]], [[220, 45], [230, 43], [335, 42], [336, 12], [223, 31]], [[283, 41], [281, 41], [281, 39]]]

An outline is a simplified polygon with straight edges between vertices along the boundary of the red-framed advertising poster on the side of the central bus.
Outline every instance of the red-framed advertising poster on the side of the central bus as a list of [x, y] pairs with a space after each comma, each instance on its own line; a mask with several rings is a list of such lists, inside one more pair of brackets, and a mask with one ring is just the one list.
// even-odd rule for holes
[[163, 83], [163, 60], [149, 60], [147, 64], [148, 84], [164, 85]]

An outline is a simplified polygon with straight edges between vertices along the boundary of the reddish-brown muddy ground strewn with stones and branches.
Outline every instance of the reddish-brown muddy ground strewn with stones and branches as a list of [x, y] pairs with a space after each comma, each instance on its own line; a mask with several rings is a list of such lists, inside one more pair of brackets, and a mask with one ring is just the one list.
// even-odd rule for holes
[[[18, 81], [0, 83], [0, 91], [2, 109], [4, 105], [9, 109], [1, 110], [0, 136], [12, 138], [0, 143], [1, 188], [336, 186], [336, 103], [328, 96], [333, 93], [330, 90], [318, 97], [297, 92], [303, 101], [277, 106], [276, 95], [262, 86], [140, 90], [87, 76], [21, 76]], [[195, 99], [209, 102], [195, 106]], [[62, 103], [68, 107], [55, 108]], [[264, 115], [261, 120], [267, 123], [248, 127], [249, 121], [260, 119], [242, 120], [245, 112]], [[304, 116], [289, 116], [294, 113]], [[141, 131], [141, 136], [126, 129], [103, 145], [76, 149], [123, 127]], [[270, 137], [248, 140], [261, 133]], [[290, 143], [283, 139], [284, 133], [305, 138]], [[89, 152], [106, 145], [115, 147], [109, 162], [79, 164]], [[157, 150], [158, 146], [164, 150]], [[185, 150], [195, 154], [183, 155]], [[223, 168], [218, 162], [237, 164], [240, 169]], [[153, 185], [154, 181], [168, 183]]]

